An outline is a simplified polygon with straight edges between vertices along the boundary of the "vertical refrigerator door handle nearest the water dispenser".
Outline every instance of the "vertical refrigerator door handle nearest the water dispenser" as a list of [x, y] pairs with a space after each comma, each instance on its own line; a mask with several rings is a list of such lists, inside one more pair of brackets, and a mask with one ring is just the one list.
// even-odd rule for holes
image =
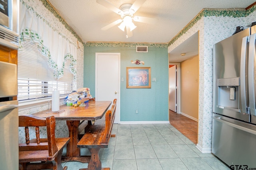
[[240, 90], [241, 90], [241, 113], [247, 113], [246, 106], [246, 46], [248, 42], [248, 37], [243, 37], [242, 47], [241, 47], [241, 61], [240, 61]]

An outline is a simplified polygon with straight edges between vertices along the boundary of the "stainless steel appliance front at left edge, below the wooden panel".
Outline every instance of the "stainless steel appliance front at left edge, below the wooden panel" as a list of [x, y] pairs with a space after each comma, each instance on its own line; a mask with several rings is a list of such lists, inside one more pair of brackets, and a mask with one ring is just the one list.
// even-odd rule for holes
[[0, 73], [0, 170], [18, 170], [17, 65], [0, 61]]

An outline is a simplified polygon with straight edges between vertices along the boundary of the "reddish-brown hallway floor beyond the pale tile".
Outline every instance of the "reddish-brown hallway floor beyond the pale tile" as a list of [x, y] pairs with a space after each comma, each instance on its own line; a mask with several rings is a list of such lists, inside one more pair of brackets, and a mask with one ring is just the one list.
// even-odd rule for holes
[[169, 110], [170, 124], [186, 136], [194, 144], [197, 143], [198, 122]]

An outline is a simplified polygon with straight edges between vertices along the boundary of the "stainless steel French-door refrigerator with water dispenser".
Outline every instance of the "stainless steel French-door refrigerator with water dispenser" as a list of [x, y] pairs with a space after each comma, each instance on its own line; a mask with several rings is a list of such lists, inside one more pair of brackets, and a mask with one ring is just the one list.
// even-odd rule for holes
[[212, 153], [228, 166], [256, 168], [256, 26], [213, 47]]

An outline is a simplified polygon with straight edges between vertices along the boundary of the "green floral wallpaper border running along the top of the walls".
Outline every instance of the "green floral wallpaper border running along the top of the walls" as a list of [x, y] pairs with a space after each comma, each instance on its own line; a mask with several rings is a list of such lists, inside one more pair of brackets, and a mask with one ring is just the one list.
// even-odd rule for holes
[[48, 0], [40, 0], [44, 6], [56, 16], [65, 25], [66, 29], [68, 29], [84, 46], [87, 47], [98, 47], [98, 46], [106, 46], [106, 47], [136, 47], [137, 45], [147, 45], [148, 47], [168, 47], [172, 43], [174, 43], [179, 37], [181, 37], [184, 33], [188, 31], [198, 20], [202, 17], [208, 16], [228, 16], [228, 17], [246, 17], [252, 12], [256, 10], [256, 5], [252, 6], [250, 9], [213, 9], [213, 8], [204, 8], [202, 9], [197, 16], [194, 17], [185, 27], [182, 29], [175, 37], [173, 37], [168, 43], [129, 43], [129, 42], [83, 42], [82, 39], [77, 35], [77, 33], [66, 23], [66, 21], [58, 14], [57, 10], [50, 4]]

